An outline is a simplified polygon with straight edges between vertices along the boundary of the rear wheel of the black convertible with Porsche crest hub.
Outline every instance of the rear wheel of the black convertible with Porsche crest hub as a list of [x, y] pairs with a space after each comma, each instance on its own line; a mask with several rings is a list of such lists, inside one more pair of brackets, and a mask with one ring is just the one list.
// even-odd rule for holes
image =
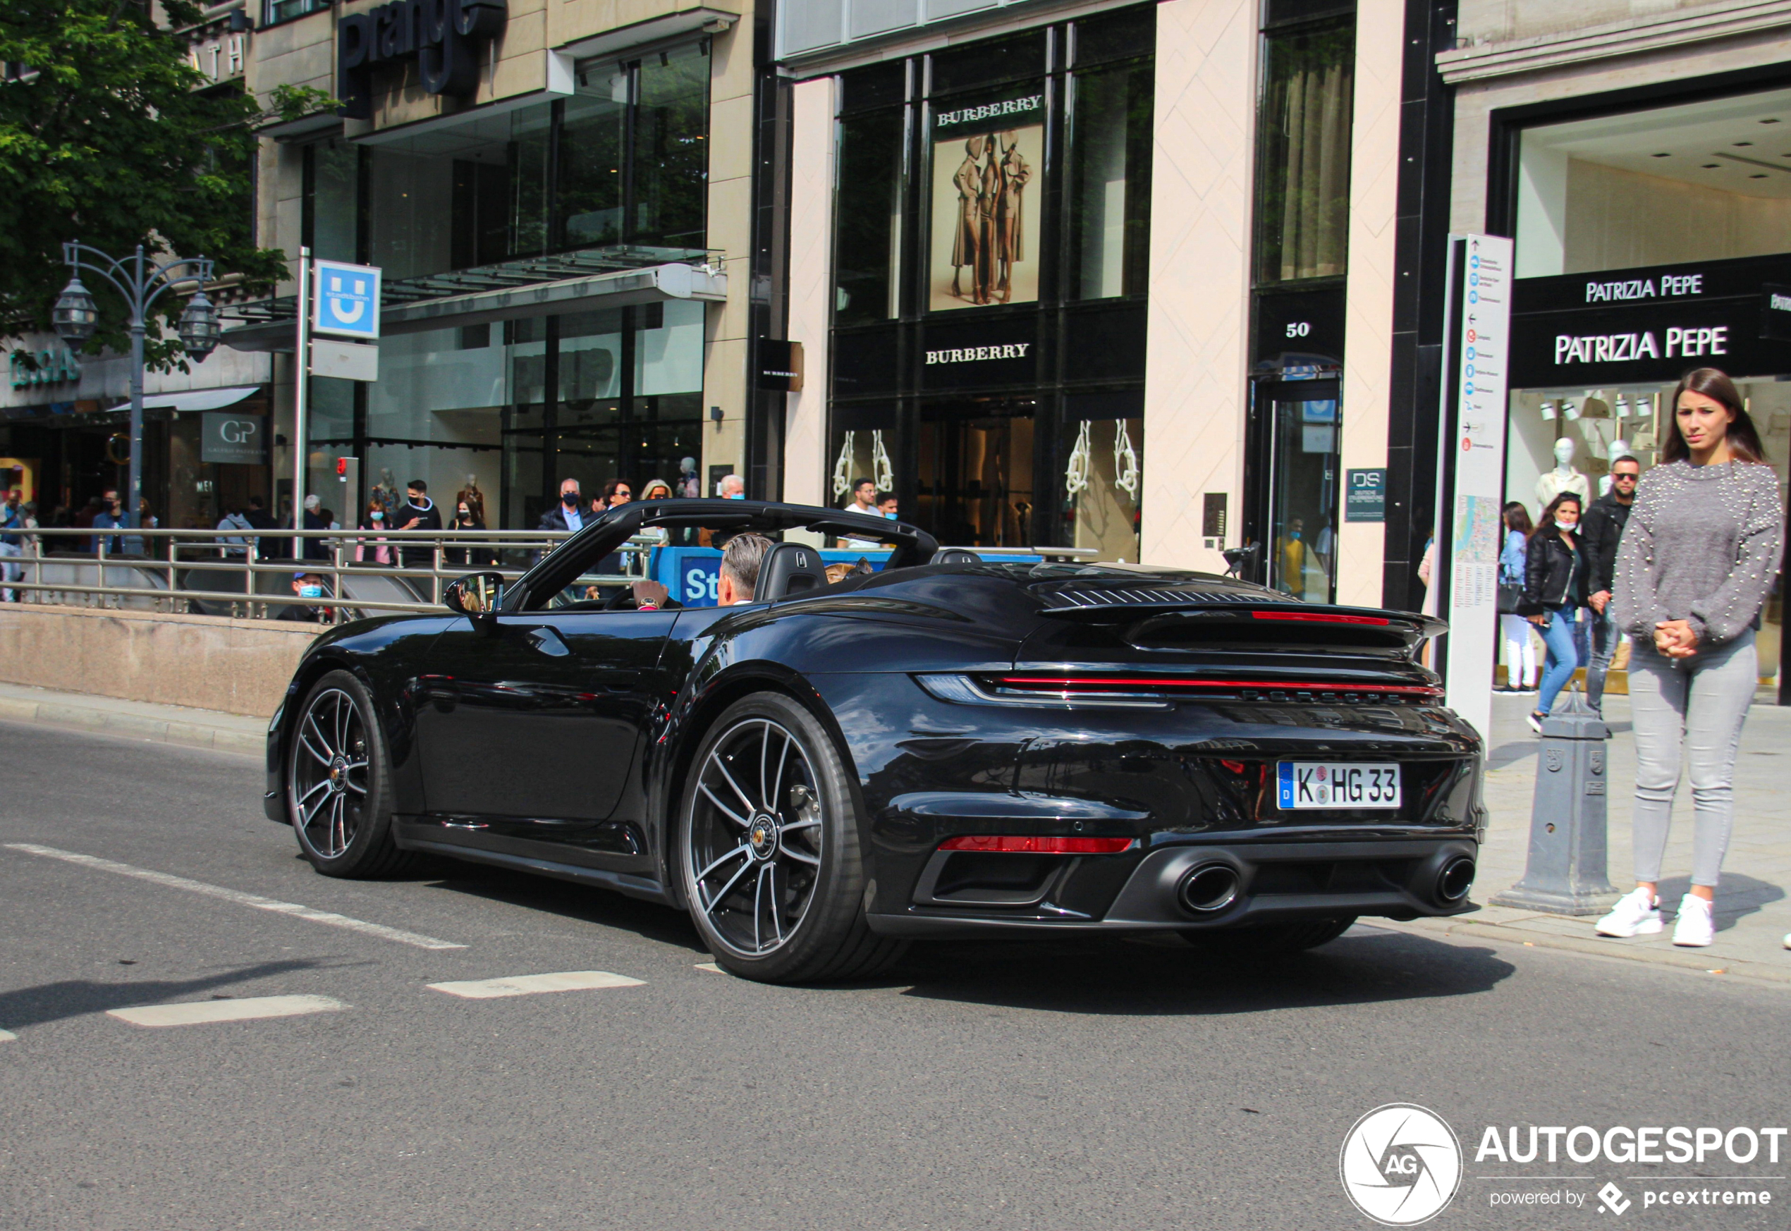
[[865, 923], [865, 858], [845, 763], [783, 693], [729, 706], [691, 762], [677, 815], [691, 921], [716, 966], [767, 984], [869, 978], [904, 941]]

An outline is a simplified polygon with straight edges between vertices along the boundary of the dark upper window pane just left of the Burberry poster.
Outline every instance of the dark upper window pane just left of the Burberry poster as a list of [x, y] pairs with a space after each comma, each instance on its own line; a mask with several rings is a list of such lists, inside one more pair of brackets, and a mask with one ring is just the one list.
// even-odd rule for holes
[[840, 120], [835, 217], [835, 323], [901, 315], [903, 138], [906, 111]]

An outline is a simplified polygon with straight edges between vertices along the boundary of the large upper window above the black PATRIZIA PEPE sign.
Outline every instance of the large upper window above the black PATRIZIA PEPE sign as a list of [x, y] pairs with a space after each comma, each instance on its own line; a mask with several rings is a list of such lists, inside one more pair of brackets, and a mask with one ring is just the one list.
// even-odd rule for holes
[[1517, 276], [1762, 256], [1791, 233], [1791, 90], [1524, 129]]

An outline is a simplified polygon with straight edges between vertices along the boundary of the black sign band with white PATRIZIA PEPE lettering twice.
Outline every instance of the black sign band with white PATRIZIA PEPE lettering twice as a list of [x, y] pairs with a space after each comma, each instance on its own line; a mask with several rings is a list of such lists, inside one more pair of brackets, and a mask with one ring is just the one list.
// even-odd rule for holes
[[1512, 387], [1671, 382], [1687, 367], [1791, 371], [1791, 254], [1521, 278]]

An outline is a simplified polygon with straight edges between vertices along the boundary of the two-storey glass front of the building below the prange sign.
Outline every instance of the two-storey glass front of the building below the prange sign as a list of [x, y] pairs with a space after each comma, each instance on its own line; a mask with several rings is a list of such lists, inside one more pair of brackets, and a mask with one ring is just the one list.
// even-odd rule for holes
[[[392, 142], [306, 149], [304, 240], [387, 281], [630, 245], [706, 244], [707, 43], [578, 65], [571, 97]], [[675, 482], [700, 457], [704, 305], [648, 303], [387, 333], [380, 380], [312, 378], [312, 491], [344, 525], [423, 478], [534, 527], [561, 478]], [[333, 482], [360, 459], [360, 491]], [[688, 462], [695, 473], [695, 461]]]

